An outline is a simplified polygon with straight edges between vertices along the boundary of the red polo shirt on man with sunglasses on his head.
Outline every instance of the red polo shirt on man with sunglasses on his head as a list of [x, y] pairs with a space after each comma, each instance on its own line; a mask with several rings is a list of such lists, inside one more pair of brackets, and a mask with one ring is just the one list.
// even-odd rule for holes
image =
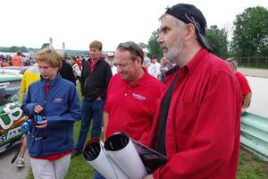
[[110, 81], [105, 102], [105, 112], [109, 114], [106, 138], [114, 132], [127, 132], [138, 141], [144, 132], [151, 130], [163, 83], [144, 71], [131, 84], [121, 80], [120, 74]]

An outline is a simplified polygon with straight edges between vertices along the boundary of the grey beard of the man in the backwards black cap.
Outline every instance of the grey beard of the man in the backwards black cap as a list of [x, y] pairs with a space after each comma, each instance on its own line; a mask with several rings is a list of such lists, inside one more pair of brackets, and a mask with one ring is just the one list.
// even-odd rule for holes
[[166, 59], [170, 60], [172, 64], [180, 64], [180, 55], [183, 50], [183, 39], [176, 40], [172, 47], [166, 47], [163, 45], [163, 55]]

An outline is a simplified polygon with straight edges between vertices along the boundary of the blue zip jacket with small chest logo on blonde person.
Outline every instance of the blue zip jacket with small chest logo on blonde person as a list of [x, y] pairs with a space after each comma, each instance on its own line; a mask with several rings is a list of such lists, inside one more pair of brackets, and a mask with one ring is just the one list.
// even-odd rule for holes
[[26, 115], [33, 116], [36, 115], [34, 107], [39, 104], [44, 108], [39, 115], [46, 116], [47, 120], [46, 129], [34, 128], [27, 135], [29, 155], [32, 157], [54, 155], [73, 149], [73, 123], [81, 117], [80, 99], [73, 83], [64, 80], [58, 73], [50, 81], [48, 94], [45, 83], [43, 77], [40, 81], [31, 83], [21, 106]]

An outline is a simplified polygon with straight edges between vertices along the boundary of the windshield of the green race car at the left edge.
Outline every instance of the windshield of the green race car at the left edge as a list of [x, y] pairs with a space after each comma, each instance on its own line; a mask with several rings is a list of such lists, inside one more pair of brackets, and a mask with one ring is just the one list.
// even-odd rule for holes
[[0, 82], [0, 106], [20, 100], [21, 81]]

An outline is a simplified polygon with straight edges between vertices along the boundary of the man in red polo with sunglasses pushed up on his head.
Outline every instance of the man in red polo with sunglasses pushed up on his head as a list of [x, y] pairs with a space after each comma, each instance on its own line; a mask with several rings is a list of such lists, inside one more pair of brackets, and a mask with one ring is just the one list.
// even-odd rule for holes
[[134, 42], [121, 43], [115, 52], [117, 74], [110, 81], [105, 102], [105, 138], [127, 132], [136, 141], [151, 130], [163, 83], [142, 67], [144, 54]]

